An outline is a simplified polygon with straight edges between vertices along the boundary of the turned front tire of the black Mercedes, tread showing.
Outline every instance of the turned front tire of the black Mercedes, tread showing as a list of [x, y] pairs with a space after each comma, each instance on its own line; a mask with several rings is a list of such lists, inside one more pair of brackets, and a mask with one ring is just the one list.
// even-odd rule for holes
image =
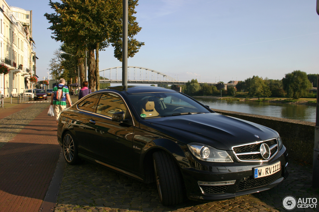
[[175, 205], [184, 199], [182, 174], [177, 163], [164, 151], [153, 153], [155, 182], [163, 205]]

